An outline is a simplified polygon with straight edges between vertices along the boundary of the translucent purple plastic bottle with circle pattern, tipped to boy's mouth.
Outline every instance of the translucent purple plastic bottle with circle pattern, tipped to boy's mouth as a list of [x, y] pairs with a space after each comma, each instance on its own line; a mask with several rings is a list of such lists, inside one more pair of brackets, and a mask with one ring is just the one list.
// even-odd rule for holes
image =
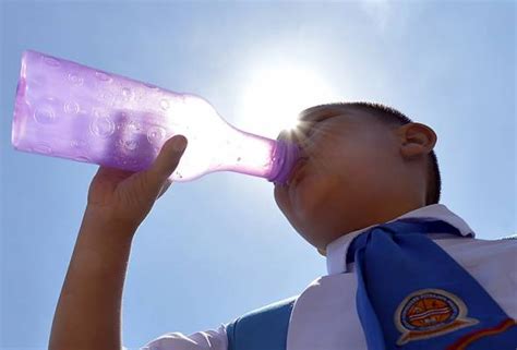
[[298, 146], [238, 130], [205, 99], [27, 50], [16, 89], [15, 149], [131, 171], [165, 141], [189, 140], [171, 179], [236, 171], [286, 183]]

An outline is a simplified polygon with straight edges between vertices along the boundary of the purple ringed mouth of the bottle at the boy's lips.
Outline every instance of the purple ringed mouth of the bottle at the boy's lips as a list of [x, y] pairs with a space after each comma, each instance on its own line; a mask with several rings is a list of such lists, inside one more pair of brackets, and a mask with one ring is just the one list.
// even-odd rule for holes
[[296, 143], [278, 140], [273, 152], [272, 172], [267, 180], [275, 184], [287, 184], [299, 156], [300, 149]]

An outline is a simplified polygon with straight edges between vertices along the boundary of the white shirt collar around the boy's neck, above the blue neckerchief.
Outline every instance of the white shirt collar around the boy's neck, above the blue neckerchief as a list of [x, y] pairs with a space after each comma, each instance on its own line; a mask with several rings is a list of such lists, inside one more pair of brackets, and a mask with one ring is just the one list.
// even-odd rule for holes
[[[432, 204], [428, 205], [411, 212], [408, 212], [393, 220], [387, 222], [392, 222], [401, 218], [433, 218], [433, 219], [441, 219], [444, 220], [454, 227], [456, 227], [462, 237], [470, 236], [474, 237], [474, 232], [472, 229], [459, 216], [450, 212], [445, 205], [443, 204]], [[352, 231], [350, 233], [346, 233], [338, 239], [332, 241], [326, 246], [326, 261], [327, 261], [327, 273], [328, 275], [336, 275], [347, 273], [347, 251], [348, 246], [350, 245], [351, 241], [361, 234], [362, 232], [366, 231], [368, 229], [377, 226], [378, 224]], [[438, 233], [438, 232], [436, 232]]]

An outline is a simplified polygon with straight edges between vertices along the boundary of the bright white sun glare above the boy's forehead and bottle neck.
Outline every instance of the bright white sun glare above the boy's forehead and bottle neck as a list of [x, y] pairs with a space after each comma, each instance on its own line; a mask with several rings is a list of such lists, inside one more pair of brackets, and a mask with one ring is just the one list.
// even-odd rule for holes
[[242, 129], [275, 138], [281, 130], [298, 125], [303, 109], [335, 99], [330, 86], [315, 71], [293, 65], [253, 70], [238, 118]]

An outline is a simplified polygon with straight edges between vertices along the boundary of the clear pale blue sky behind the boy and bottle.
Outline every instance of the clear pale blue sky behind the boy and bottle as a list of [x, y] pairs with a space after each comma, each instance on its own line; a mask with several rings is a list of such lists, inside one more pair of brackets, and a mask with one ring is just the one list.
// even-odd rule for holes
[[[12, 149], [23, 50], [199, 94], [228, 122], [269, 137], [279, 123], [264, 105], [275, 96], [252, 97], [256, 84], [278, 82], [256, 83], [257, 72], [311, 72], [291, 75], [306, 88], [284, 98], [306, 102], [325, 89], [432, 126], [442, 203], [494, 239], [517, 231], [515, 22], [512, 1], [0, 1], [0, 349], [46, 347], [97, 170]], [[134, 240], [124, 345], [217, 327], [324, 274], [267, 181], [220, 172], [173, 184]]]

